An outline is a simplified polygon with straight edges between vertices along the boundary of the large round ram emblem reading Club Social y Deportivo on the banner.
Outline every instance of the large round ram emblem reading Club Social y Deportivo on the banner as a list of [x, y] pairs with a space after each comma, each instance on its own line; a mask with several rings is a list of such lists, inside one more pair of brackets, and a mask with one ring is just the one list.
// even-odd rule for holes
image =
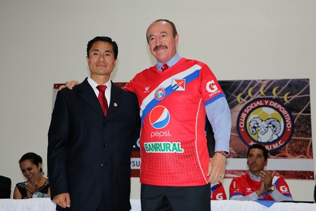
[[294, 132], [291, 112], [272, 98], [247, 103], [238, 114], [237, 131], [246, 145], [264, 145], [269, 152], [283, 148]]

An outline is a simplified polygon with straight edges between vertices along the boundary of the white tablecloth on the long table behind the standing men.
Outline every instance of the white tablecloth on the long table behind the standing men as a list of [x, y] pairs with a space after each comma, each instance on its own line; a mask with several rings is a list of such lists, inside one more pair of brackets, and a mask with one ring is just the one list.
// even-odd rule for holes
[[[131, 199], [131, 211], [141, 211], [140, 200]], [[56, 205], [49, 198], [38, 199], [0, 199], [0, 211], [55, 211]], [[212, 211], [316, 211], [316, 204], [308, 203], [274, 203], [266, 207], [249, 201], [212, 201]]]

